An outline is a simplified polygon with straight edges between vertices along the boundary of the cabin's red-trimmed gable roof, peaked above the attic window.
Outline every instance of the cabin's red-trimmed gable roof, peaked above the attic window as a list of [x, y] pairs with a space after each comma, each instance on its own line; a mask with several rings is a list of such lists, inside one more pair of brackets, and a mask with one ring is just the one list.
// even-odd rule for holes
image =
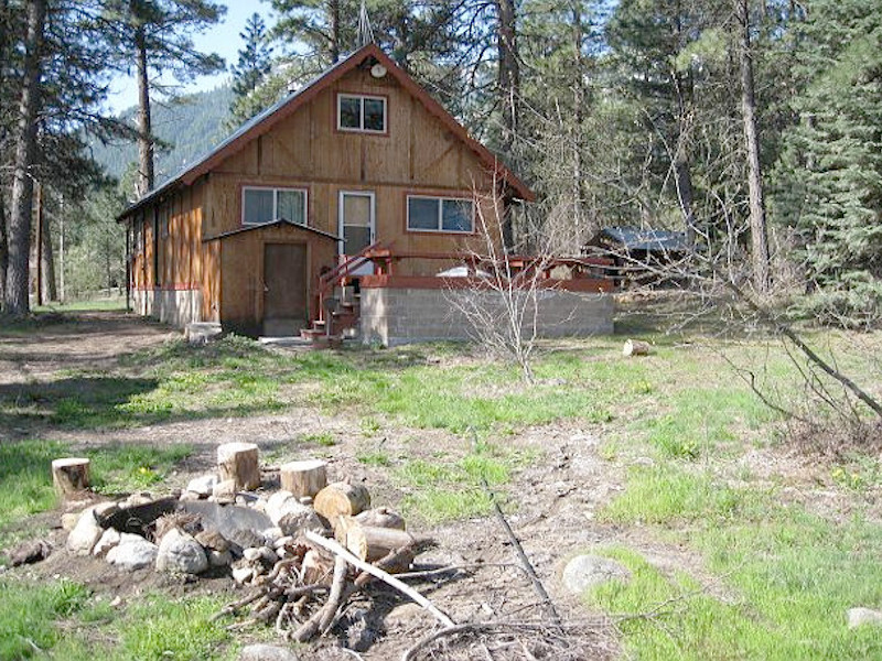
[[367, 44], [352, 55], [337, 62], [335, 65], [326, 69], [322, 75], [315, 78], [309, 85], [293, 91], [277, 101], [259, 115], [255, 116], [241, 127], [239, 127], [233, 134], [227, 137], [211, 152], [198, 159], [191, 165], [186, 165], [178, 174], [175, 174], [168, 182], [154, 188], [140, 199], [136, 201], [117, 217], [122, 219], [132, 212], [142, 207], [147, 203], [161, 197], [163, 194], [181, 186], [190, 186], [202, 175], [211, 172], [212, 169], [219, 165], [223, 161], [234, 155], [244, 149], [252, 140], [263, 136], [272, 129], [277, 123], [297, 112], [305, 104], [313, 100], [321, 91], [326, 89], [330, 85], [340, 80], [343, 76], [357, 68], [365, 59], [373, 57], [384, 67], [389, 75], [391, 75], [401, 87], [410, 93], [418, 99], [423, 107], [438, 118], [451, 133], [459, 138], [471, 149], [478, 160], [487, 166], [488, 170], [496, 173], [505, 183], [507, 183], [521, 199], [531, 202], [536, 199], [533, 191], [520, 181], [499, 159], [493, 154], [486, 147], [481, 144], [477, 140], [472, 138], [465, 128], [456, 121], [456, 119], [443, 106], [435, 101], [429, 93], [420, 87], [413, 78], [411, 78], [401, 67], [399, 67], [386, 53], [380, 50], [376, 44]]

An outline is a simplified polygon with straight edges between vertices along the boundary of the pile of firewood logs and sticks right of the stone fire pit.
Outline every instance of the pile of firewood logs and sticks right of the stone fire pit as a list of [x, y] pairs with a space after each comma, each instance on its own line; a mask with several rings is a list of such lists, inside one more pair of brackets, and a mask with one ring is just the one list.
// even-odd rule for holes
[[304, 525], [280, 540], [275, 553], [246, 554], [234, 563], [234, 576], [244, 573], [240, 583], [255, 589], [218, 615], [248, 609], [250, 616], [233, 628], [275, 622], [282, 638], [305, 642], [327, 632], [347, 600], [376, 581], [412, 593], [394, 574], [407, 572], [434, 542], [407, 532], [405, 520], [387, 508], [364, 509], [369, 502], [362, 485], [324, 487], [312, 503], [319, 514], [312, 521], [322, 527]]

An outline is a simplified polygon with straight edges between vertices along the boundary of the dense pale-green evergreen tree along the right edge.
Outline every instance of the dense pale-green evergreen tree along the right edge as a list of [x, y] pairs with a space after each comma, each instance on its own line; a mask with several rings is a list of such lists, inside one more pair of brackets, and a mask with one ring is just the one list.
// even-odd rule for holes
[[785, 133], [776, 212], [798, 230], [814, 304], [882, 313], [882, 1], [817, 0], [799, 28], [804, 91]]

